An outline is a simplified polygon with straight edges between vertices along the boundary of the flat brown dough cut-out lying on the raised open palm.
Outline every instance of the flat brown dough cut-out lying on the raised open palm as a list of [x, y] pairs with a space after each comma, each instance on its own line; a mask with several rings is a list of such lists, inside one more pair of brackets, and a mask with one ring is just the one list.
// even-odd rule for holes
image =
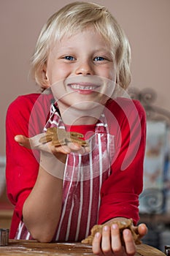
[[65, 129], [57, 127], [47, 128], [45, 136], [39, 139], [40, 143], [48, 143], [51, 141], [53, 146], [63, 146], [67, 143], [78, 143], [80, 146], [88, 146], [85, 140], [81, 140], [84, 136], [79, 132], [66, 132]]

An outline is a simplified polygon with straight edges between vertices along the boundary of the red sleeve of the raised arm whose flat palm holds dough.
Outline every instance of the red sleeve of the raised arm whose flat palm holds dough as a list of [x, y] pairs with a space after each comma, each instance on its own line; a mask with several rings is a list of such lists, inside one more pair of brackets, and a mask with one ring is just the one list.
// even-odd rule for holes
[[[22, 219], [23, 203], [36, 182], [39, 170], [39, 152], [19, 146], [15, 142], [15, 135], [36, 135], [42, 132], [45, 125], [45, 112], [39, 108], [38, 122], [34, 122], [35, 115], [30, 119], [39, 94], [18, 97], [9, 105], [6, 118], [6, 152], [7, 152], [7, 195], [15, 206], [10, 229], [10, 238], [15, 237], [20, 219]], [[43, 106], [44, 107], [44, 106]], [[41, 113], [42, 112], [42, 113]], [[47, 116], [46, 116], [47, 117]]]

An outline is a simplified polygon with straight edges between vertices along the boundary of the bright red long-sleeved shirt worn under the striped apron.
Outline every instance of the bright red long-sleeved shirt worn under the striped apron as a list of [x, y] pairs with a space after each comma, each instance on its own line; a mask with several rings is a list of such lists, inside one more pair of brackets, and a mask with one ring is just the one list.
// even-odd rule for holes
[[[7, 195], [15, 206], [10, 238], [15, 238], [23, 203], [34, 187], [39, 170], [39, 152], [33, 154], [19, 146], [14, 137], [20, 134], [31, 137], [45, 127], [52, 97], [42, 96], [39, 100], [39, 95], [20, 96], [7, 110]], [[38, 111], [34, 111], [35, 102]], [[115, 137], [115, 154], [111, 174], [101, 186], [98, 224], [114, 217], [127, 217], [134, 219], [136, 225], [143, 181], [145, 113], [138, 101], [123, 98], [110, 100], [107, 109], [105, 116], [109, 133]]]

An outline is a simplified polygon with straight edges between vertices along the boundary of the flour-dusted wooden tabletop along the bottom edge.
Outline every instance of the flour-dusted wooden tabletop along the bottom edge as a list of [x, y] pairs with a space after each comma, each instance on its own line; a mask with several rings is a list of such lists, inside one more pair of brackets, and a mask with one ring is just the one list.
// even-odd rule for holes
[[[36, 241], [9, 240], [9, 245], [0, 246], [0, 255], [12, 256], [92, 256], [91, 246], [80, 243], [38, 243]], [[93, 255], [94, 256], [94, 255]], [[158, 249], [140, 244], [137, 246], [136, 256], [165, 256]]]

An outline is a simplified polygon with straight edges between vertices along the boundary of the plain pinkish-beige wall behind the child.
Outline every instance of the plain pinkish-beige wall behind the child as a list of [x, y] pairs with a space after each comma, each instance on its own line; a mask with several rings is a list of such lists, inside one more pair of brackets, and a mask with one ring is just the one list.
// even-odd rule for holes
[[[5, 154], [5, 116], [7, 107], [19, 94], [37, 90], [28, 77], [29, 60], [36, 38], [47, 18], [70, 1], [1, 0], [1, 113], [0, 155]], [[156, 105], [170, 109], [170, 1], [96, 0], [115, 15], [132, 48], [131, 86], [151, 87], [158, 93]]]

